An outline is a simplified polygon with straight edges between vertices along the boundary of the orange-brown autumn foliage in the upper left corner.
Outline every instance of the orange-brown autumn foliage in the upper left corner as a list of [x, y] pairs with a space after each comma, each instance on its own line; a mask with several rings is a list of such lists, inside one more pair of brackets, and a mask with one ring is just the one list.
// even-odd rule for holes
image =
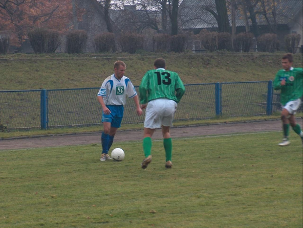
[[[27, 32], [44, 27], [64, 32], [72, 26], [73, 0], [1, 0], [0, 31], [10, 34], [10, 43], [21, 46]], [[77, 18], [81, 18], [78, 10]]]

